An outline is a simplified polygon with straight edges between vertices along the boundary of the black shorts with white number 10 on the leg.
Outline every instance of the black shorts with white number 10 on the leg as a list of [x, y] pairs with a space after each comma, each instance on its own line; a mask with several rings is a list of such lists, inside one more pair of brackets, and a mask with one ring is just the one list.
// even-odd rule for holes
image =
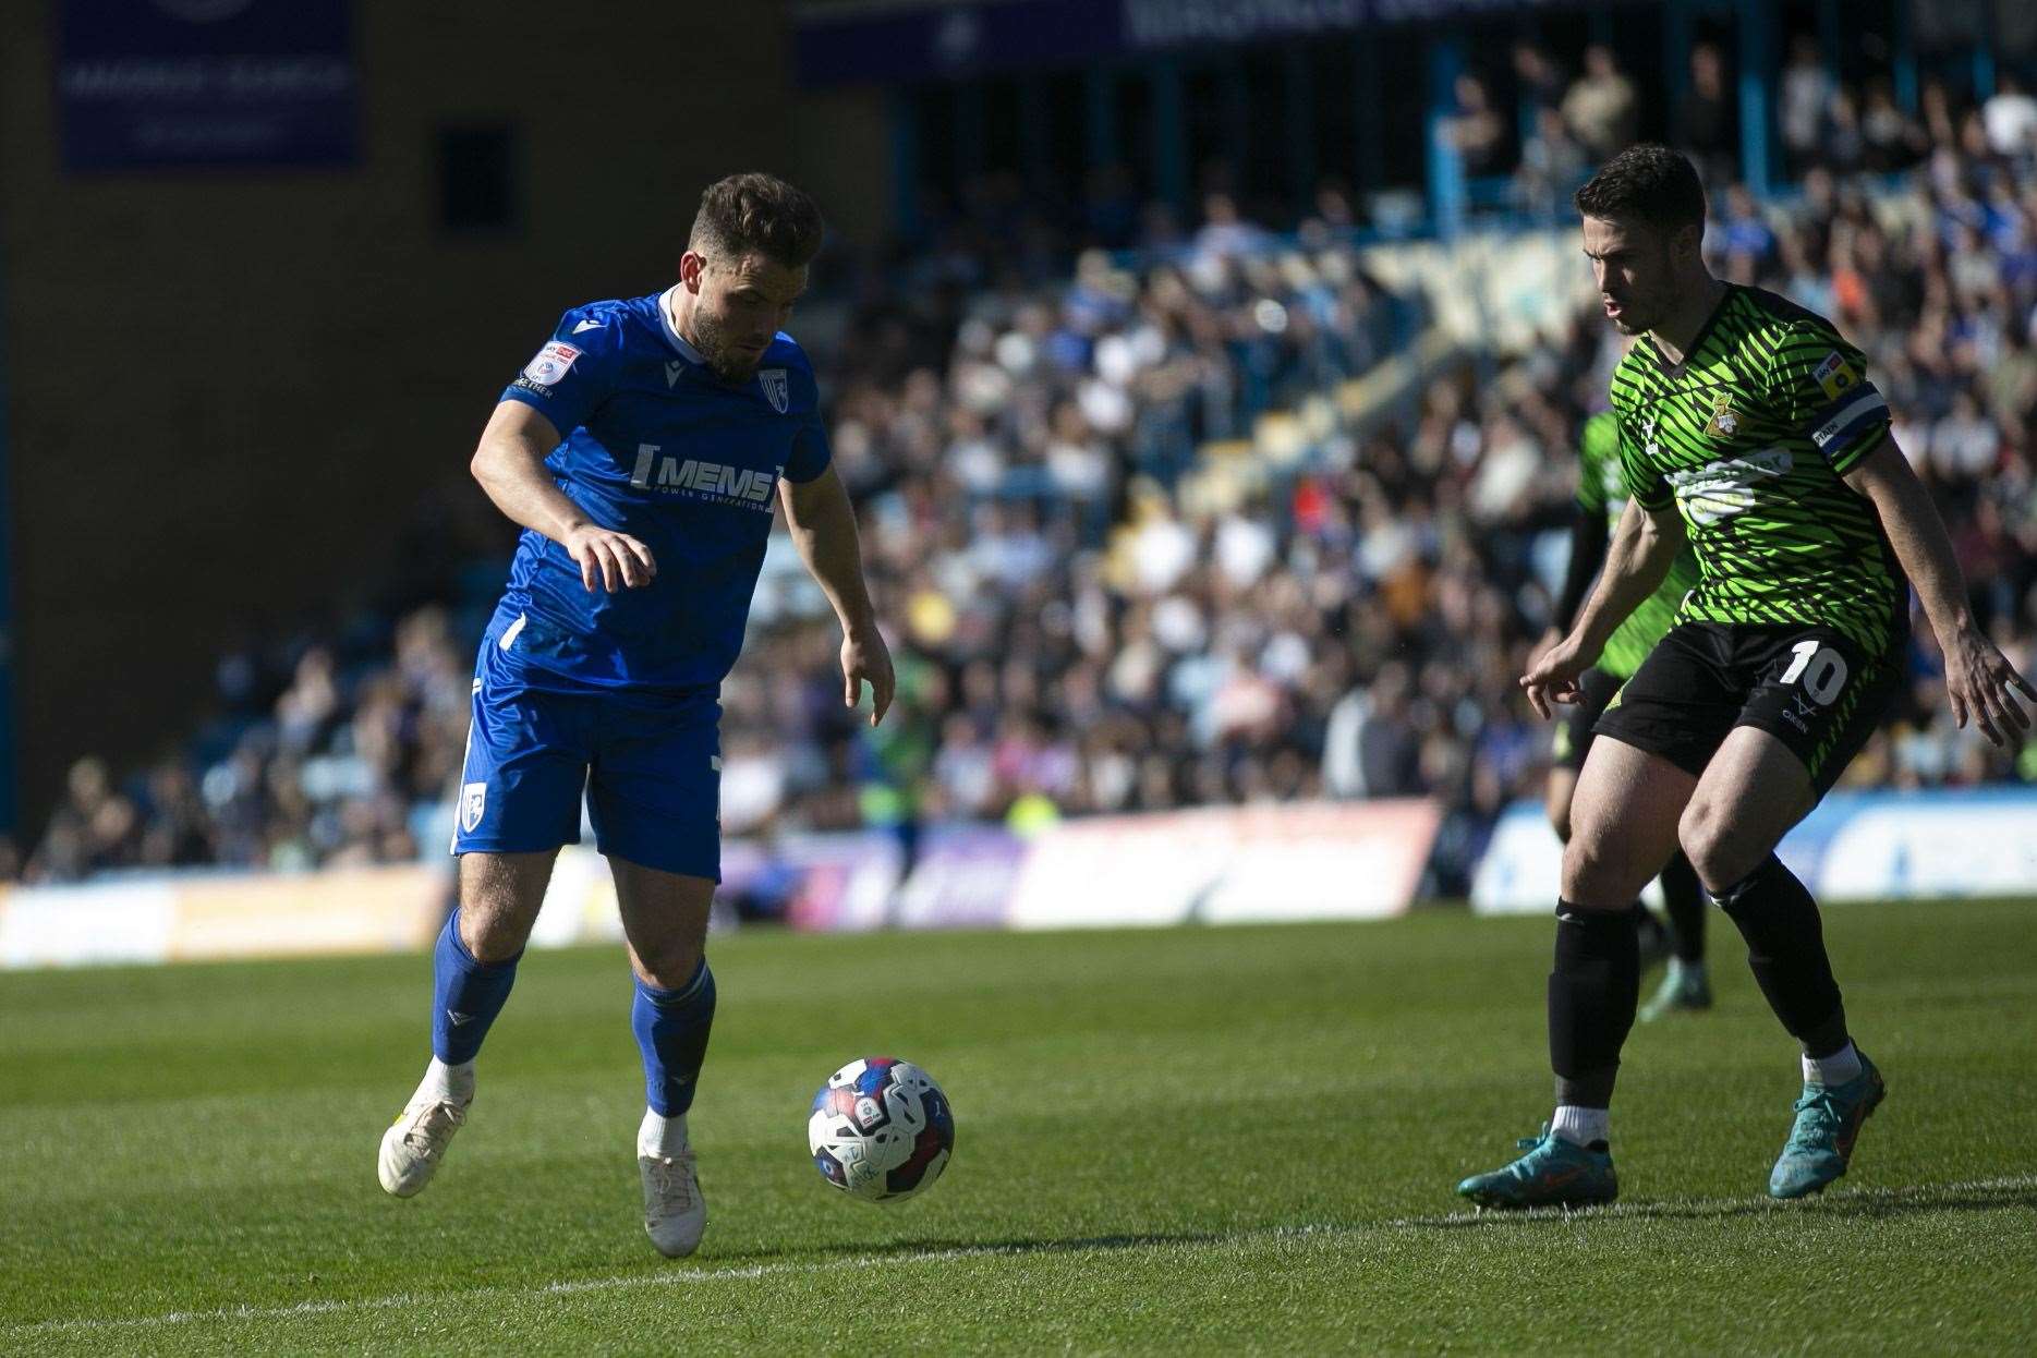
[[1874, 735], [1901, 682], [1901, 639], [1866, 654], [1833, 627], [1676, 623], [1595, 731], [1699, 776], [1733, 727], [1788, 745], [1819, 796]]

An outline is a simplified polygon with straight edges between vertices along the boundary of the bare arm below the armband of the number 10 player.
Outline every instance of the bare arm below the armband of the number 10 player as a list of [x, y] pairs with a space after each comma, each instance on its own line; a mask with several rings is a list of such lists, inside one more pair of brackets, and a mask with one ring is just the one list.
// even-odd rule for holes
[[1888, 546], [1917, 586], [1923, 615], [1937, 635], [1937, 647], [1945, 654], [1945, 696], [1951, 700], [1953, 721], [1964, 727], [1972, 717], [1996, 745], [2006, 745], [2011, 735], [2029, 731], [2031, 719], [2015, 694], [2023, 692], [2037, 702], [2037, 688], [2017, 674], [2008, 658], [1974, 623], [1945, 521], [1937, 517], [1931, 493], [1917, 480], [1896, 440], [1884, 438], [1880, 448], [1860, 458], [1854, 470], [1846, 472], [1846, 485], [1874, 501]]

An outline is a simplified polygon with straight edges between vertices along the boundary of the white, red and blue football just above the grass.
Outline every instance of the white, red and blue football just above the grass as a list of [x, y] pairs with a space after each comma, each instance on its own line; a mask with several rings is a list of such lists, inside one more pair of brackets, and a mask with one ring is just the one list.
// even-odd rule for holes
[[868, 1203], [925, 1193], [955, 1150], [955, 1118], [933, 1075], [911, 1061], [851, 1061], [813, 1095], [807, 1148], [821, 1177]]

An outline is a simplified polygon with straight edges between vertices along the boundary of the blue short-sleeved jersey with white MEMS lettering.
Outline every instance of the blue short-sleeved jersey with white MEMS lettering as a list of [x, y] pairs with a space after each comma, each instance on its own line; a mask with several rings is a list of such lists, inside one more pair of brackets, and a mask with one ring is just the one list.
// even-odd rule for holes
[[744, 645], [778, 478], [827, 470], [807, 354], [780, 334], [735, 385], [672, 330], [662, 295], [595, 301], [560, 318], [503, 399], [558, 428], [544, 462], [558, 489], [648, 546], [658, 576], [589, 592], [562, 546], [526, 531], [489, 637], [566, 688], [719, 684]]

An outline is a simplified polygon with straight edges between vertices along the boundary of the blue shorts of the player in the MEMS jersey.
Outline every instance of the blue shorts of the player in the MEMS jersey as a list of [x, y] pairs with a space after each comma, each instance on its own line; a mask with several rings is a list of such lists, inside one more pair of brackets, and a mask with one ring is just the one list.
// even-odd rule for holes
[[475, 662], [454, 853], [581, 843], [660, 871], [721, 882], [721, 702], [711, 688], [593, 688], [526, 666], [495, 637]]

